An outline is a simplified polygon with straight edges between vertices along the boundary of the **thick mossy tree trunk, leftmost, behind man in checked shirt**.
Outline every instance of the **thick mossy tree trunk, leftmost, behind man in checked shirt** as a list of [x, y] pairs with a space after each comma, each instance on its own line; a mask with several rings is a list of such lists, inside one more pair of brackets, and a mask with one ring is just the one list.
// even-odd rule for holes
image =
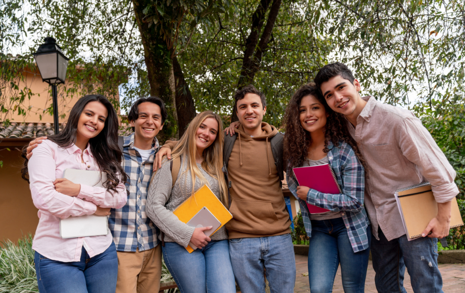
[[171, 53], [166, 41], [154, 29], [154, 25], [149, 26], [149, 23], [144, 21], [143, 9], [150, 3], [150, 0], [133, 0], [134, 12], [144, 47], [150, 94], [161, 98], [168, 112], [163, 130], [157, 136], [160, 143], [164, 143], [167, 139], [177, 137], [174, 77]]

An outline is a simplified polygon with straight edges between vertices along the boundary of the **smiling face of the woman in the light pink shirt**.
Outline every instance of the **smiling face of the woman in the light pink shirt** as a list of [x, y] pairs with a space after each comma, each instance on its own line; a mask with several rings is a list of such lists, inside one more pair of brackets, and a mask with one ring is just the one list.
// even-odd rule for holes
[[102, 103], [97, 101], [87, 103], [77, 123], [77, 139], [89, 141], [89, 139], [97, 136], [105, 126], [107, 116], [108, 110]]

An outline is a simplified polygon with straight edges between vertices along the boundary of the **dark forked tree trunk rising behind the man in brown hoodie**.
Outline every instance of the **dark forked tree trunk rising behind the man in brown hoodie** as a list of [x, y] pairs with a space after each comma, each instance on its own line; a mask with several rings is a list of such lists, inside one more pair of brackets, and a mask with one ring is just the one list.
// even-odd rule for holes
[[[266, 11], [270, 6], [271, 0], [261, 0], [255, 13], [252, 15], [252, 28], [245, 44], [244, 59], [242, 61], [237, 89], [241, 89], [248, 84], [253, 84], [255, 74], [258, 69], [260, 69], [263, 53], [268, 47], [268, 42], [270, 42], [271, 33], [273, 32], [273, 27], [275, 26], [279, 14], [279, 8], [281, 7], [281, 1], [282, 0], [273, 0], [261, 37], [261, 28], [265, 22]], [[236, 109], [232, 109], [231, 122], [234, 121], [237, 121]]]

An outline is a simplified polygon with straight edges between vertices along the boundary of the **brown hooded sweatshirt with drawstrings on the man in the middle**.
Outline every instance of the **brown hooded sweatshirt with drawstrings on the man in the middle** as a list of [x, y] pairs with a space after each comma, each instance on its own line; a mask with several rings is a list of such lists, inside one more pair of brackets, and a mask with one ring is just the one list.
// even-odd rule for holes
[[239, 126], [228, 162], [232, 187], [226, 224], [229, 238], [253, 238], [290, 233], [291, 221], [279, 187], [279, 175], [271, 152], [270, 138], [278, 133], [262, 122], [262, 134], [251, 137]]

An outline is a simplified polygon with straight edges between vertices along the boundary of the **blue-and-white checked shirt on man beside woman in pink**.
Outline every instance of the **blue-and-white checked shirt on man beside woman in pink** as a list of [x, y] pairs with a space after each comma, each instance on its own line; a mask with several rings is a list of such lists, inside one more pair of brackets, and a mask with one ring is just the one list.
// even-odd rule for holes
[[134, 133], [124, 137], [121, 166], [129, 177], [126, 183], [128, 201], [121, 209], [111, 209], [108, 219], [116, 251], [145, 251], [158, 245], [158, 228], [145, 214], [145, 201], [152, 177], [155, 154], [160, 145], [154, 138], [152, 152], [142, 162], [134, 148]]

